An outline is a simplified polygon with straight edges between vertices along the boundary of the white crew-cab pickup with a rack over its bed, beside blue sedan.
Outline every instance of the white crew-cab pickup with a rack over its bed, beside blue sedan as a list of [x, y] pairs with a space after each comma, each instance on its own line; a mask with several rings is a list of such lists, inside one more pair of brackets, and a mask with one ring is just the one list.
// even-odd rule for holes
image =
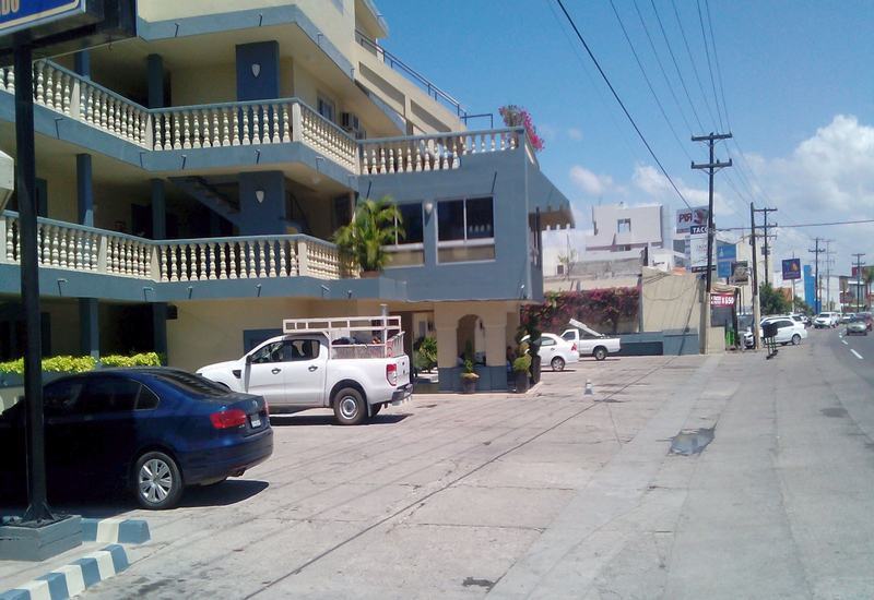
[[198, 374], [263, 396], [272, 413], [332, 408], [344, 425], [410, 399], [400, 316], [286, 319], [283, 333]]

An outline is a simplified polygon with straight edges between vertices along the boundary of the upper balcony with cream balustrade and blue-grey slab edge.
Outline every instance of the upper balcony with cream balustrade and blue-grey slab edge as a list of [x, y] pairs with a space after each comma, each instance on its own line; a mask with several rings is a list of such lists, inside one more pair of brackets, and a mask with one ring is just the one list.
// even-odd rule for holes
[[[15, 72], [0, 68], [0, 93], [15, 92]], [[9, 98], [11, 100], [11, 98]], [[176, 156], [181, 151], [214, 148], [259, 148], [251, 153], [257, 164], [287, 163], [300, 153], [283, 153], [280, 148], [303, 144], [316, 156], [323, 156], [339, 169], [333, 176], [347, 185], [347, 175], [358, 172], [358, 148], [354, 137], [324, 119], [298, 98], [277, 98], [259, 101], [236, 101], [198, 106], [149, 109], [107, 89], [51, 61], [34, 63], [34, 103], [60, 115], [49, 131], [39, 133], [73, 143], [86, 143], [85, 136], [64, 135], [59, 122], [64, 118], [110, 135], [133, 147], [95, 148], [120, 159], [138, 164], [152, 171], [246, 165], [249, 158], [232, 153], [226, 160], [210, 154], [204, 160], [197, 153]], [[9, 118], [12, 103], [9, 103]], [[0, 110], [0, 115], [2, 115]], [[37, 130], [39, 130], [37, 119]], [[55, 131], [52, 131], [52, 129]], [[92, 141], [93, 142], [93, 141]], [[96, 144], [96, 143], [95, 143]], [[166, 156], [165, 156], [166, 155]], [[181, 158], [177, 160], [177, 158]], [[318, 169], [318, 167], [317, 167]]]

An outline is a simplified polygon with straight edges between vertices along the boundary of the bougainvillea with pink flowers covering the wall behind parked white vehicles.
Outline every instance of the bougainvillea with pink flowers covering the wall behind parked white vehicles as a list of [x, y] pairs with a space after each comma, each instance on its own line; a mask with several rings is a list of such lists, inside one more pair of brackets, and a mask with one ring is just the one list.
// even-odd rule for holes
[[570, 319], [590, 325], [606, 325], [614, 333], [621, 320], [637, 315], [640, 293], [637, 288], [590, 289], [546, 292], [541, 304], [522, 307], [521, 324], [560, 334]]

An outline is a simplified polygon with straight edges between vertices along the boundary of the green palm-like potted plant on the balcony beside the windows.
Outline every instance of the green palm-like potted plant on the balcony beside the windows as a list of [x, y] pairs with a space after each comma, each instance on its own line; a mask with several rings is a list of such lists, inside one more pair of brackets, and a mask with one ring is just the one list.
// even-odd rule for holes
[[362, 277], [377, 277], [388, 261], [385, 247], [404, 237], [401, 212], [383, 196], [358, 203], [352, 223], [338, 229], [333, 239], [344, 265], [359, 269]]

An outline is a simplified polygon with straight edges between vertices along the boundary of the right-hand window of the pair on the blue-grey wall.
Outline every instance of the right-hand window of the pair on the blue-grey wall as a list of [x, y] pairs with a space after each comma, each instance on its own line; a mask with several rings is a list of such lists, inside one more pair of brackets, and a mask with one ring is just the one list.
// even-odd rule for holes
[[492, 197], [437, 203], [437, 259], [441, 263], [495, 259]]

